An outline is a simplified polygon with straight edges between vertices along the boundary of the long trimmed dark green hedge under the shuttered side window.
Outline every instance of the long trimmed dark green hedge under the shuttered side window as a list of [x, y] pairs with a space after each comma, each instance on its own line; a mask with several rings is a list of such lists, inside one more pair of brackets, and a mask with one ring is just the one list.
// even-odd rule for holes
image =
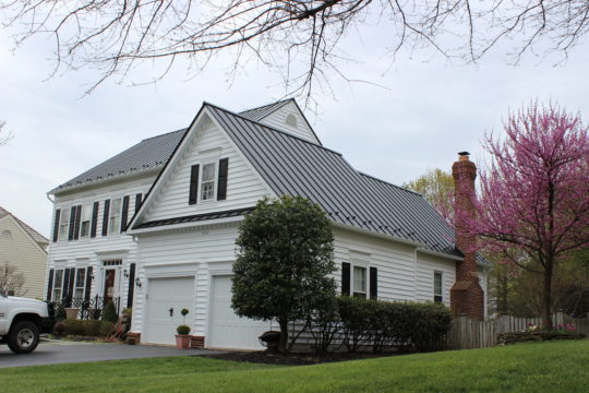
[[389, 348], [433, 350], [443, 348], [452, 313], [438, 303], [389, 302], [340, 297], [338, 312], [344, 344], [350, 352], [369, 346], [374, 353]]

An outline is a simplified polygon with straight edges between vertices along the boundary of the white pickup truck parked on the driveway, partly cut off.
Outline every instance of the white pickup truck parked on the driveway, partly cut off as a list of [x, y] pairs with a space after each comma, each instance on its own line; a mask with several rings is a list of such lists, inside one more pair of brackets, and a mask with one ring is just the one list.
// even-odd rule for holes
[[0, 291], [0, 344], [8, 344], [15, 354], [35, 350], [39, 334], [50, 333], [53, 324], [52, 303]]

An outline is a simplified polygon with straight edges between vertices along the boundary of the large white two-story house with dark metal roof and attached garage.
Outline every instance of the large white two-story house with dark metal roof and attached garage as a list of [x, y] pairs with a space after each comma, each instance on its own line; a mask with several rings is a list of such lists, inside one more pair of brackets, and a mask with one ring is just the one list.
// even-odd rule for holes
[[482, 298], [464, 295], [480, 290], [473, 271], [484, 286], [484, 260], [464, 258], [421, 195], [322, 146], [292, 99], [241, 114], [205, 103], [187, 130], [145, 140], [50, 193], [48, 297], [132, 305], [142, 343], [173, 343], [188, 308], [195, 342], [260, 347], [272, 324], [230, 307], [235, 240], [256, 201], [281, 194], [309, 198], [333, 219], [341, 293], [450, 306], [452, 289], [456, 312], [483, 313]]

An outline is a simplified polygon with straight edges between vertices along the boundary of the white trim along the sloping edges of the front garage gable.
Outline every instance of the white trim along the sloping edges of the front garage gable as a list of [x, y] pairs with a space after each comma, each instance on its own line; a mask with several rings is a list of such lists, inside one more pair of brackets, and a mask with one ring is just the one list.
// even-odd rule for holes
[[[203, 106], [199, 110], [199, 114], [196, 114], [196, 117], [194, 118], [194, 120], [190, 124], [189, 130], [187, 131], [187, 133], [184, 134], [182, 140], [180, 141], [179, 145], [177, 146], [177, 148], [173, 152], [173, 154], [171, 155], [171, 157], [166, 163], [164, 169], [161, 170], [159, 176], [156, 178], [154, 184], [152, 184], [149, 191], [147, 192], [147, 194], [145, 196], [145, 200], [143, 201], [143, 203], [141, 205], [141, 209], [139, 210], [139, 212], [133, 216], [133, 218], [129, 223], [129, 225], [128, 225], [129, 229], [127, 230], [128, 234], [133, 235], [133, 234], [149, 231], [148, 229], [156, 229], [156, 227], [154, 227], [154, 228], [145, 228], [145, 229], [133, 229], [133, 226], [141, 221], [141, 218], [144, 216], [145, 212], [148, 210], [148, 206], [152, 204], [152, 200], [154, 198], [156, 198], [155, 195], [157, 195], [161, 191], [163, 184], [166, 182], [166, 180], [168, 179], [170, 174], [173, 171], [173, 169], [175, 169], [175, 167], [176, 167], [176, 165], [178, 163], [178, 159], [180, 159], [179, 157], [183, 156], [187, 148], [191, 145], [192, 140], [195, 136], [195, 132], [197, 132], [197, 130], [203, 127], [203, 124], [201, 122], [204, 121], [203, 119], [205, 119], [205, 116], [206, 116], [206, 118], [208, 118], [211, 120], [211, 122], [213, 122], [214, 126], [217, 127], [217, 129], [220, 132], [223, 132], [223, 134], [225, 135], [225, 138], [228, 141], [229, 145], [237, 152], [237, 154], [240, 156], [240, 158], [242, 158], [243, 162], [245, 163], [247, 167], [250, 170], [252, 170], [252, 172], [254, 174], [256, 179], [263, 184], [263, 187], [266, 190], [266, 193], [268, 193], [273, 198], [276, 198], [276, 193], [268, 186], [268, 183], [265, 181], [265, 179], [259, 174], [259, 171], [254, 168], [252, 163], [245, 157], [243, 152], [241, 152], [241, 150], [237, 146], [237, 144], [231, 139], [231, 136], [227, 133], [227, 131], [225, 131], [224, 127], [209, 112], [209, 109], [207, 108], [207, 104], [205, 103], [205, 104], [203, 104]], [[173, 217], [170, 217], [170, 218], [173, 218]], [[199, 222], [184, 223], [184, 224], [181, 224], [179, 227], [182, 227], [182, 226], [199, 226], [199, 224], [200, 224]], [[158, 229], [161, 230], [160, 228], [158, 228]]]

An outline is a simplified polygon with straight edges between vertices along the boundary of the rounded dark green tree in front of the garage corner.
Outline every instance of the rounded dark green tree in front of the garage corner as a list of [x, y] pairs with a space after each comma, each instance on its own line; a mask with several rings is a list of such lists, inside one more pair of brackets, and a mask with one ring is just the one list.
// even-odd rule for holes
[[336, 296], [332, 225], [301, 196], [263, 199], [239, 227], [232, 308], [240, 317], [278, 321], [280, 352], [288, 323]]

